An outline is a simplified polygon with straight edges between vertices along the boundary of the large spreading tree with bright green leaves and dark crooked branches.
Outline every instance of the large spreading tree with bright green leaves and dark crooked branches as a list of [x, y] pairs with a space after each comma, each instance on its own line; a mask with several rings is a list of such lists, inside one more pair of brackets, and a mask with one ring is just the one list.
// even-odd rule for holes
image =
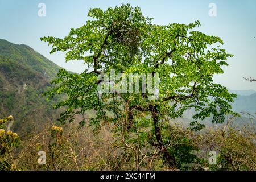
[[[63, 51], [65, 60], [84, 60], [88, 67], [80, 74], [60, 70], [58, 78], [52, 81], [56, 86], [48, 96], [63, 93], [68, 96], [56, 106], [67, 107], [61, 114], [61, 122], [72, 122], [76, 114], [95, 110], [95, 117], [89, 119], [94, 129], [108, 124], [113, 126], [113, 132], [122, 131], [127, 140], [131, 133], [139, 133], [137, 141], [158, 148], [165, 162], [176, 166], [175, 152], [171, 152], [175, 149], [168, 148], [173, 139], [166, 132], [170, 129], [169, 122], [163, 121], [179, 118], [193, 108], [196, 114], [191, 118], [191, 129], [200, 130], [205, 118], [222, 123], [226, 114], [233, 113], [229, 102], [235, 95], [213, 82], [213, 75], [223, 73], [221, 66], [228, 65], [226, 59], [232, 55], [221, 48], [220, 38], [192, 31], [200, 26], [198, 21], [153, 24], [139, 7], [130, 5], [106, 11], [90, 9], [88, 16], [91, 20], [71, 29], [63, 39], [41, 38], [52, 46], [51, 53]], [[98, 76], [110, 74], [111, 69], [115, 74], [126, 75], [157, 73], [158, 97], [152, 100], [151, 93], [142, 93], [142, 90], [139, 93], [115, 91], [100, 96], [98, 84], [102, 81]], [[147, 84], [150, 84], [148, 80]], [[81, 121], [80, 125], [85, 122]]]

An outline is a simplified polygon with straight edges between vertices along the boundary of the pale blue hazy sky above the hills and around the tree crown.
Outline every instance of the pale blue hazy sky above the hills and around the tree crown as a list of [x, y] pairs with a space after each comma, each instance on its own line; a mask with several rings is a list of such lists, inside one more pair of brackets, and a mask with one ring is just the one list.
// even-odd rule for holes
[[[39, 17], [39, 3], [45, 3], [46, 16]], [[42, 36], [63, 38], [71, 28], [85, 24], [90, 7], [106, 10], [109, 6], [130, 3], [139, 6], [153, 23], [191, 23], [200, 20], [197, 30], [208, 35], [220, 36], [224, 48], [234, 55], [228, 60], [225, 73], [214, 80], [230, 89], [254, 89], [256, 82], [243, 80], [243, 76], [256, 77], [256, 1], [255, 0], [201, 0], [201, 1], [82, 1], [82, 0], [0, 0], [0, 39], [15, 44], [27, 44], [61, 67], [82, 72], [82, 61], [65, 63], [63, 53], [49, 54]], [[209, 16], [209, 4], [217, 6], [217, 16]]]

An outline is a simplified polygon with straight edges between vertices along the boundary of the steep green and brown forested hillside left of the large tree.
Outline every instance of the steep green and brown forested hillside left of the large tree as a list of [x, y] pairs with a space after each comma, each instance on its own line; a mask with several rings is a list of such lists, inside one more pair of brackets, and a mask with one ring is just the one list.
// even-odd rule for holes
[[23, 135], [53, 122], [59, 111], [42, 93], [60, 67], [26, 45], [0, 39], [0, 118], [13, 115], [12, 129]]

